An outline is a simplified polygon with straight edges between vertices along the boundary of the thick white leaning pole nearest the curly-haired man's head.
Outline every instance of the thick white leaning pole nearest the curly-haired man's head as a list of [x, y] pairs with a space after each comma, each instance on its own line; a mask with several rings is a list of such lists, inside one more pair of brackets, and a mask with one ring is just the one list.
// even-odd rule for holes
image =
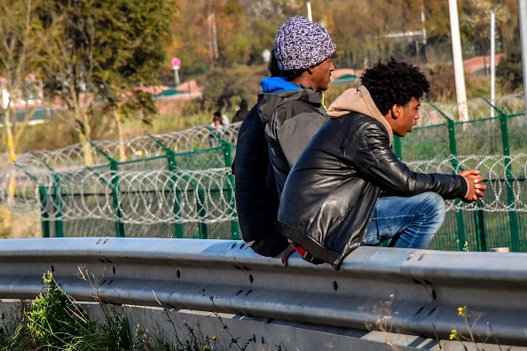
[[[524, 1], [525, 0], [523, 0], [523, 2]], [[458, 4], [456, 0], [448, 0], [448, 10], [450, 12], [450, 30], [452, 36], [452, 55], [456, 83], [458, 118], [460, 121], [468, 121], [467, 92], [465, 90], [465, 75], [463, 72], [463, 58], [461, 55], [460, 19], [458, 18]]]

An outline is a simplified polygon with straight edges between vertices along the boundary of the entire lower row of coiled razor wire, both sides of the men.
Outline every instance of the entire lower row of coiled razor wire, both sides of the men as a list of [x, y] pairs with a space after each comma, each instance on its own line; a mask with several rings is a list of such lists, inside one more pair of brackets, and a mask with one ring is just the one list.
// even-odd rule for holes
[[[527, 212], [524, 189], [527, 154], [449, 156], [409, 162], [422, 173], [476, 168], [486, 179], [479, 203], [448, 201], [448, 210]], [[9, 199], [10, 179], [16, 195]], [[201, 170], [119, 170], [83, 168], [52, 172], [20, 165], [0, 172], [0, 200], [12, 211], [41, 219], [119, 219], [124, 223], [226, 222], [237, 219], [231, 168]]]

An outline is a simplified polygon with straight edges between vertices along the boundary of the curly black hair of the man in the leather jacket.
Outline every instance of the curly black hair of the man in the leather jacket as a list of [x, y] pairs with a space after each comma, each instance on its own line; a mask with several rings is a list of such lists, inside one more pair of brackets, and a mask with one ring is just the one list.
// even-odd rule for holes
[[406, 105], [412, 98], [420, 99], [430, 91], [430, 83], [417, 66], [391, 58], [386, 64], [366, 69], [360, 77], [374, 103], [385, 115], [393, 105]]

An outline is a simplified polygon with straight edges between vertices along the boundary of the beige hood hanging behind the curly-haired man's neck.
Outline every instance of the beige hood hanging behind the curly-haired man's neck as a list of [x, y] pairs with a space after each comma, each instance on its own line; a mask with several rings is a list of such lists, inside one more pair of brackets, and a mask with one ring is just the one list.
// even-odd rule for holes
[[362, 113], [380, 121], [388, 131], [389, 144], [392, 143], [393, 131], [391, 130], [388, 121], [386, 121], [375, 105], [370, 92], [364, 85], [359, 86], [358, 89], [345, 90], [341, 96], [336, 98], [333, 104], [329, 105], [327, 108], [327, 115], [330, 118], [337, 118], [351, 112]]

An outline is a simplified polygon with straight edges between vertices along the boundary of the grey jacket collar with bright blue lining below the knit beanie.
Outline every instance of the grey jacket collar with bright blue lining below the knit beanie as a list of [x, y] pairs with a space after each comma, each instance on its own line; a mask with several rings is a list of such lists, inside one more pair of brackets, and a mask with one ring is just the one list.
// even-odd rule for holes
[[263, 93], [258, 95], [258, 114], [267, 123], [279, 105], [292, 100], [303, 100], [311, 105], [322, 105], [321, 96], [310, 88], [301, 88], [283, 77], [267, 77], [261, 82]]

